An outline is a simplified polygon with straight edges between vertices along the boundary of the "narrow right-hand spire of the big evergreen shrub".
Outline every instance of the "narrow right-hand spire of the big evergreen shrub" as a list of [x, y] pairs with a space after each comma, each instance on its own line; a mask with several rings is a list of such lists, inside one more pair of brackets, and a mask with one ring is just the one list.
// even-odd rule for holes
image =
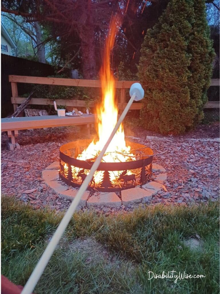
[[192, 36], [188, 50], [192, 55], [189, 70], [190, 98], [195, 101], [197, 113], [194, 123], [203, 118], [203, 106], [207, 102], [207, 90], [210, 86], [212, 64], [215, 56], [213, 41], [210, 39], [210, 28], [206, 20], [206, 5], [204, 0], [194, 0], [195, 21], [192, 25]]

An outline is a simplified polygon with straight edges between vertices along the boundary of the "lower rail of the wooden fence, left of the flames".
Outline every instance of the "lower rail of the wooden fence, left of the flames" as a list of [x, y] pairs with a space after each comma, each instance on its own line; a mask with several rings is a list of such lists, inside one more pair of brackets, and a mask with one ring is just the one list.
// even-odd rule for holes
[[[21, 104], [26, 98], [11, 97], [11, 103]], [[47, 98], [31, 98], [29, 104], [32, 105], [53, 105], [53, 100]], [[56, 99], [57, 105], [73, 106], [73, 107], [95, 107], [95, 101]]]

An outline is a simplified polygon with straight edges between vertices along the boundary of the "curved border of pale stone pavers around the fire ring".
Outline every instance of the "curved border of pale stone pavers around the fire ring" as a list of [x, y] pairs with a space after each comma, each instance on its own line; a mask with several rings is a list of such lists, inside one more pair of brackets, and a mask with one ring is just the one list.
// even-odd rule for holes
[[[51, 163], [42, 172], [42, 178], [46, 185], [52, 188], [58, 196], [73, 200], [77, 194], [78, 189], [72, 188], [59, 179], [60, 164], [58, 161]], [[157, 194], [163, 188], [163, 183], [167, 179], [167, 173], [163, 166], [156, 163], [152, 164], [152, 171], [155, 174], [152, 175], [153, 181], [140, 187], [135, 187], [121, 191], [121, 198], [114, 192], [100, 192], [91, 193], [86, 191], [79, 206], [91, 207], [91, 206], [106, 206], [106, 207], [119, 207], [121, 205], [129, 206], [135, 203], [147, 203], [153, 195]]]

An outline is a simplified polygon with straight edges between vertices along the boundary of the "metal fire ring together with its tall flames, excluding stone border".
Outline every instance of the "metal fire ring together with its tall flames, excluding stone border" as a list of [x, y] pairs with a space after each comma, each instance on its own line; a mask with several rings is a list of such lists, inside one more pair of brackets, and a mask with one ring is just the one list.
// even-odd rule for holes
[[[75, 188], [79, 188], [89, 174], [118, 120], [116, 80], [110, 65], [111, 50], [118, 28], [118, 21], [112, 21], [100, 69], [102, 100], [96, 109], [98, 139], [78, 140], [60, 147], [59, 177]], [[153, 151], [150, 148], [125, 141], [121, 123], [89, 183], [88, 190], [120, 192], [142, 186], [151, 177], [152, 160]]]

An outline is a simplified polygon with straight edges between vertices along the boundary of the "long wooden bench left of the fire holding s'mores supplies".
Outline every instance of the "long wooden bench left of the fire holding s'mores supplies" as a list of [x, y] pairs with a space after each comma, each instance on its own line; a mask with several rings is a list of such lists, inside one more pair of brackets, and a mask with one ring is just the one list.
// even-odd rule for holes
[[32, 117], [16, 117], [16, 118], [2, 118], [1, 131], [8, 134], [7, 146], [9, 150], [18, 147], [16, 137], [18, 130], [34, 129], [34, 128], [54, 128], [58, 126], [72, 126], [83, 125], [87, 128], [87, 134], [90, 136], [90, 125], [95, 123], [95, 115], [80, 116], [32, 116]]

